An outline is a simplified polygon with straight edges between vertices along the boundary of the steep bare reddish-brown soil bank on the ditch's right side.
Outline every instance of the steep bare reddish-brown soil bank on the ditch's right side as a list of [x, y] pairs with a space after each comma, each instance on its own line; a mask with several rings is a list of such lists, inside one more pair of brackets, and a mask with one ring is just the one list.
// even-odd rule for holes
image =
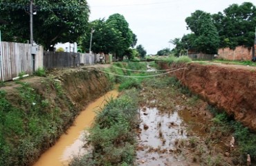
[[256, 73], [241, 68], [201, 64], [159, 63], [161, 68], [187, 69], [172, 73], [190, 91], [225, 110], [256, 131]]

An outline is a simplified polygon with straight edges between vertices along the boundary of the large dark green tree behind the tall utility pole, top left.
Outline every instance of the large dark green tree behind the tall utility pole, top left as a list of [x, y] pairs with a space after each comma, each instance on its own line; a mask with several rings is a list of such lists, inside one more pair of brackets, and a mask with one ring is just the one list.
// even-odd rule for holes
[[[3, 40], [26, 42], [30, 39], [30, 1], [0, 1], [1, 19], [8, 24], [0, 26]], [[57, 42], [77, 42], [84, 34], [89, 19], [86, 0], [37, 0], [33, 4], [33, 34], [37, 44], [46, 50]]]

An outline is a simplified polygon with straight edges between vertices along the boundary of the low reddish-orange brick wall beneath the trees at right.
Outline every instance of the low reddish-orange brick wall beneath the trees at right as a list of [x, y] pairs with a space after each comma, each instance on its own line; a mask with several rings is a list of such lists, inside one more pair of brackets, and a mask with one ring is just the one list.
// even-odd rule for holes
[[235, 50], [230, 48], [219, 48], [218, 59], [227, 60], [251, 60], [253, 57], [253, 49], [246, 48], [244, 46], [237, 46]]

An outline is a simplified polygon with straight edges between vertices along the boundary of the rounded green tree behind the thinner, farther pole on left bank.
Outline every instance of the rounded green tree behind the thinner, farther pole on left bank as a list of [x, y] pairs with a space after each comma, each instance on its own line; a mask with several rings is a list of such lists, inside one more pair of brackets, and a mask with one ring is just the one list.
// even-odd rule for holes
[[[134, 47], [137, 37], [132, 33], [129, 24], [120, 14], [114, 14], [106, 21], [97, 19], [90, 23], [90, 28], [94, 30], [91, 50], [94, 53], [114, 53], [117, 57], [130, 55], [130, 47]], [[82, 47], [88, 50], [91, 39], [91, 29], [88, 29], [82, 37]]]

